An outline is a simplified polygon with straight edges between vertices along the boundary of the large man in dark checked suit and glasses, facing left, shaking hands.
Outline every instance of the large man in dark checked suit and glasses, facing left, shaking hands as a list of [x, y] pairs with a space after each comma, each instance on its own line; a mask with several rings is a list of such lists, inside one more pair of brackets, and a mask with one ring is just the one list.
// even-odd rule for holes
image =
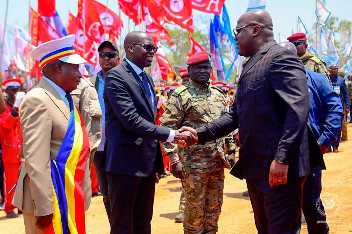
[[235, 40], [239, 55], [251, 59], [233, 107], [207, 126], [187, 130], [201, 144], [239, 128], [239, 160], [231, 174], [247, 181], [258, 233], [294, 234], [301, 228], [309, 174], [307, 77], [300, 58], [280, 48], [272, 30], [266, 11], [241, 15]]

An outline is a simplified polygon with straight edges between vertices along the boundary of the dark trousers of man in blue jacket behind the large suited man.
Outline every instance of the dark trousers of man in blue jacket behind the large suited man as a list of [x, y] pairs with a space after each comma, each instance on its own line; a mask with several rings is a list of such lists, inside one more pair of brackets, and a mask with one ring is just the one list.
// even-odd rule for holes
[[[303, 187], [303, 204], [302, 210], [307, 222], [309, 234], [327, 234], [329, 226], [326, 223], [326, 217], [318, 212], [317, 204], [321, 193], [321, 168], [314, 168], [312, 173], [308, 175], [306, 183]], [[324, 211], [324, 207], [319, 204], [320, 209]]]

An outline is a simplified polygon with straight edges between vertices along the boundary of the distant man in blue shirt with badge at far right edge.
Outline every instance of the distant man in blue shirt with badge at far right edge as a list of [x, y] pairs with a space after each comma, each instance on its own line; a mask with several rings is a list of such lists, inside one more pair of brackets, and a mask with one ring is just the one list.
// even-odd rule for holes
[[[342, 108], [344, 108], [344, 115], [346, 116], [348, 111], [350, 111], [350, 97], [348, 96], [345, 79], [337, 75], [337, 73], [339, 72], [338, 66], [332, 64], [329, 68], [331, 69], [330, 78], [333, 85], [333, 89], [340, 96]], [[337, 135], [337, 140], [331, 144], [333, 152], [339, 152], [338, 148], [340, 144], [340, 139], [341, 132]]]

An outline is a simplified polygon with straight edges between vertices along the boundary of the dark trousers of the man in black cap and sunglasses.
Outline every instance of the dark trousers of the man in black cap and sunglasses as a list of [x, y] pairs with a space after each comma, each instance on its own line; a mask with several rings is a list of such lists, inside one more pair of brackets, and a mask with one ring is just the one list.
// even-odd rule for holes
[[96, 151], [94, 154], [93, 163], [95, 167], [96, 176], [98, 177], [100, 192], [103, 194], [103, 202], [104, 202], [106, 214], [108, 215], [108, 219], [110, 221], [111, 208], [110, 208], [110, 199], [109, 199], [109, 190], [108, 190], [108, 180], [106, 178], [105, 171], [98, 169], [102, 156], [103, 156], [103, 151]]

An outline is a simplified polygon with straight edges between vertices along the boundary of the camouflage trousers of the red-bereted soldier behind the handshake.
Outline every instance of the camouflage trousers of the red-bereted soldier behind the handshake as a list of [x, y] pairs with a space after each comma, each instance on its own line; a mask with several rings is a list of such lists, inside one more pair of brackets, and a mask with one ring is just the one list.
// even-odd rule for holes
[[224, 167], [205, 173], [186, 173], [183, 231], [185, 234], [215, 234], [224, 195]]

